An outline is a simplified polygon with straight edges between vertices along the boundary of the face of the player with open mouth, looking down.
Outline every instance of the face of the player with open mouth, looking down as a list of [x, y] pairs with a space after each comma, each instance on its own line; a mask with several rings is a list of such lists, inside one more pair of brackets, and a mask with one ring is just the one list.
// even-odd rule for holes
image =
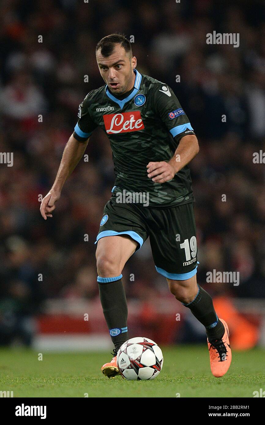
[[123, 94], [134, 86], [134, 71], [137, 61], [136, 57], [130, 59], [124, 48], [117, 44], [114, 52], [103, 57], [100, 49], [97, 51], [97, 64], [100, 74], [109, 91], [113, 94]]

